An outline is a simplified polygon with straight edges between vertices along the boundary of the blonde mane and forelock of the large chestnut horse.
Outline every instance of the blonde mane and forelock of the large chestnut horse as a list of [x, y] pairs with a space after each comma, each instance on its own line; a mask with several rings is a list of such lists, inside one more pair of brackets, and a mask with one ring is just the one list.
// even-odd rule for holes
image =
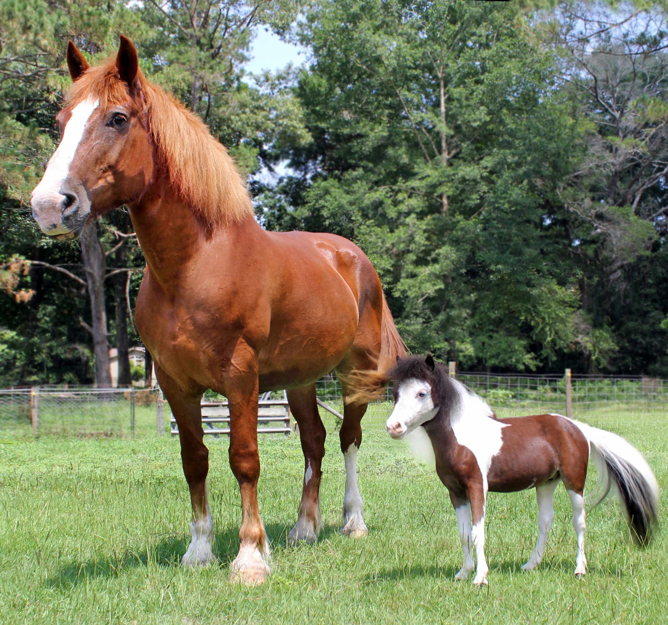
[[[138, 72], [148, 128], [162, 164], [180, 197], [210, 225], [241, 221], [253, 215], [248, 189], [226, 147], [211, 136], [206, 124], [172, 95]], [[114, 59], [90, 67], [69, 89], [68, 104], [88, 97], [100, 99], [100, 109], [128, 97]]]

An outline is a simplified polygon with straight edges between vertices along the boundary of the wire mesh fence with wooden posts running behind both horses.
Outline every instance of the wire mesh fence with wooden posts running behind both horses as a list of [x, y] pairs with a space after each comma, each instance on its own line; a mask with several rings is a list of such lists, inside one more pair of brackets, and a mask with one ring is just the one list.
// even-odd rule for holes
[[[500, 417], [569, 414], [605, 427], [632, 416], [635, 422], [640, 419], [643, 423], [668, 424], [668, 380], [660, 378], [473, 372], [459, 372], [457, 378], [484, 398]], [[316, 393], [318, 400], [335, 412], [343, 412], [341, 384], [335, 376], [318, 380]], [[383, 426], [392, 402], [389, 386], [367, 409], [367, 426]], [[156, 436], [164, 409], [158, 402], [157, 389], [5, 389], [0, 390], [0, 436], [12, 432], [35, 436]], [[326, 408], [321, 408], [321, 415], [330, 426], [339, 421]]]

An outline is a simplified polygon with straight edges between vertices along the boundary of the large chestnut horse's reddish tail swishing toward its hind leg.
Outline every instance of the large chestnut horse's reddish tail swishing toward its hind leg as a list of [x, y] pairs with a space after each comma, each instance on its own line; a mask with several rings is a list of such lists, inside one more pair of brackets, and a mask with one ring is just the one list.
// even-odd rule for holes
[[353, 370], [346, 374], [337, 373], [339, 381], [352, 391], [345, 397], [346, 404], [369, 404], [377, 400], [389, 381], [387, 372], [396, 364], [397, 358], [405, 356], [407, 352], [408, 348], [397, 332], [383, 293], [378, 368], [375, 371]]

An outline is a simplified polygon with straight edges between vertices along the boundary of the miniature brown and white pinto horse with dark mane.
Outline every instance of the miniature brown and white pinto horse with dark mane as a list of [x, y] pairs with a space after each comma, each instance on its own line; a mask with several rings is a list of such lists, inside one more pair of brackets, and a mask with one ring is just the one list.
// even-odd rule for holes
[[[524, 570], [540, 564], [552, 526], [552, 496], [559, 482], [568, 491], [578, 551], [575, 574], [587, 572], [585, 507], [582, 497], [589, 456], [599, 471], [598, 505], [615, 486], [634, 538], [646, 544], [657, 521], [659, 486], [640, 452], [623, 438], [556, 414], [497, 419], [490, 407], [464, 384], [450, 378], [432, 356], [399, 360], [394, 380], [394, 410], [387, 432], [401, 439], [422, 426], [428, 434], [436, 472], [450, 492], [464, 550], [464, 580], [478, 566], [474, 584], [487, 584], [485, 502], [488, 491], [536, 488], [538, 541]], [[471, 526], [473, 522], [473, 526]]]

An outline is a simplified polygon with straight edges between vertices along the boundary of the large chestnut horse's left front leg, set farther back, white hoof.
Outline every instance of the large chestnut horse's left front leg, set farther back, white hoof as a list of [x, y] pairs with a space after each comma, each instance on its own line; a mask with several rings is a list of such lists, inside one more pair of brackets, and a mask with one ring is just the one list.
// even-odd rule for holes
[[213, 521], [206, 494], [206, 474], [208, 473], [208, 449], [202, 442], [202, 392], [185, 394], [174, 380], [156, 364], [156, 377], [160, 388], [169, 402], [181, 442], [181, 460], [186, 482], [190, 488], [192, 540], [181, 560], [184, 566], [200, 566], [215, 562], [211, 551], [213, 541]]

